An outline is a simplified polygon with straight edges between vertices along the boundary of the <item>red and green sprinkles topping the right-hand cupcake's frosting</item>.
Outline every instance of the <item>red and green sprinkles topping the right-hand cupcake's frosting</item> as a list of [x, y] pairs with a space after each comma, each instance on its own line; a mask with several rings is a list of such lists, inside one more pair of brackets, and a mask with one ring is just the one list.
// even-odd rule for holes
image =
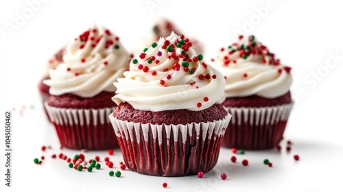
[[[220, 52], [225, 52], [222, 58], [224, 66], [236, 64], [237, 59], [247, 60], [251, 56], [261, 56], [261, 62], [263, 64], [270, 64], [276, 67], [281, 64], [280, 59], [275, 58], [275, 54], [270, 52], [268, 47], [258, 42], [255, 36], [248, 36], [248, 39], [244, 39], [243, 35], [239, 35], [237, 43], [229, 45], [227, 49], [222, 47]], [[212, 61], [214, 61], [214, 59], [212, 59]], [[283, 69], [287, 73], [291, 71], [290, 67], [279, 67], [278, 72], [281, 73]], [[244, 77], [247, 76], [248, 75], [245, 73]]]

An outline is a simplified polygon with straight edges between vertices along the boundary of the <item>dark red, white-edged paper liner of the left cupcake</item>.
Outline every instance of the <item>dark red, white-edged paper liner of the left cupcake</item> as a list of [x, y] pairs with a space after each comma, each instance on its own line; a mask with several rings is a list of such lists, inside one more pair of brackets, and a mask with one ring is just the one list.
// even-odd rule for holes
[[111, 149], [119, 147], [108, 115], [115, 108], [56, 108], [45, 102], [62, 147], [70, 149]]

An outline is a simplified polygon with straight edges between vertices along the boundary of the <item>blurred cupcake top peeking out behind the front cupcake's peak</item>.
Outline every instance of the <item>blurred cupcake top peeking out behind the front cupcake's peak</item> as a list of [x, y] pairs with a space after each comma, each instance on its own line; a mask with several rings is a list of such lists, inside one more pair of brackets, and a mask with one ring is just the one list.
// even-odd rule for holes
[[[174, 23], [171, 23], [171, 21], [160, 18], [156, 21], [156, 23], [152, 26], [152, 28], [147, 32], [145, 36], [143, 36], [143, 47], [150, 47], [152, 42], [157, 42], [160, 37], [167, 38], [171, 32], [174, 32], [175, 34], [182, 34], [180, 32], [180, 29], [174, 25]], [[198, 41], [196, 38], [189, 38], [189, 40], [192, 43], [192, 48], [197, 53], [203, 53], [204, 49], [202, 48], [203, 45]]]

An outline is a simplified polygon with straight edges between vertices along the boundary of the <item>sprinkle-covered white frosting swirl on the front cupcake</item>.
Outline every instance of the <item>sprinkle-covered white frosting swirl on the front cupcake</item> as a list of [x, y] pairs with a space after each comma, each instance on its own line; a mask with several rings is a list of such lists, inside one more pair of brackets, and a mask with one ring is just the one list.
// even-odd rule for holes
[[172, 32], [130, 62], [125, 78], [114, 83], [113, 101], [150, 111], [196, 111], [220, 104], [225, 99], [224, 77], [202, 59], [188, 38]]

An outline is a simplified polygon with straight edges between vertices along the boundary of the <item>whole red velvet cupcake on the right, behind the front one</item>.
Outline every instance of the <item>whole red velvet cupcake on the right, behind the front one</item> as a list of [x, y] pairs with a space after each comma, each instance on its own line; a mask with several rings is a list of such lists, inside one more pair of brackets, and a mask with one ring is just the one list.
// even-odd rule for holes
[[291, 68], [255, 36], [239, 36], [213, 60], [226, 80], [222, 106], [232, 115], [224, 147], [270, 149], [283, 138], [292, 98]]

